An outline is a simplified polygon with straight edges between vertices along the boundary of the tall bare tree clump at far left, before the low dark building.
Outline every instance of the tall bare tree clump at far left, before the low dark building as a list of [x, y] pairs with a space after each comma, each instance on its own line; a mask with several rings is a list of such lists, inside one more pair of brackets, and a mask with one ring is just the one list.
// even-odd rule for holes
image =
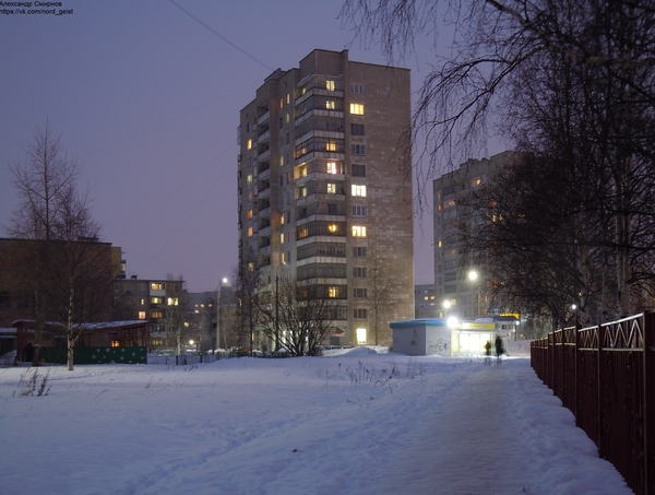
[[[95, 313], [90, 306], [78, 310], [80, 293], [84, 292], [82, 285], [86, 283], [83, 272], [88, 269], [87, 258], [93, 251], [85, 243], [97, 241], [100, 227], [91, 216], [88, 195], [78, 189], [76, 158], [68, 156], [49, 121], [44, 129], [35, 130], [26, 160], [11, 164], [10, 168], [20, 203], [7, 231], [13, 237], [39, 240], [34, 245], [32, 272], [36, 321], [33, 364], [39, 360], [46, 318], [53, 319], [63, 313], [69, 335], [69, 369], [72, 369], [72, 347], [79, 334], [74, 320]], [[46, 286], [47, 283], [50, 285]]]

